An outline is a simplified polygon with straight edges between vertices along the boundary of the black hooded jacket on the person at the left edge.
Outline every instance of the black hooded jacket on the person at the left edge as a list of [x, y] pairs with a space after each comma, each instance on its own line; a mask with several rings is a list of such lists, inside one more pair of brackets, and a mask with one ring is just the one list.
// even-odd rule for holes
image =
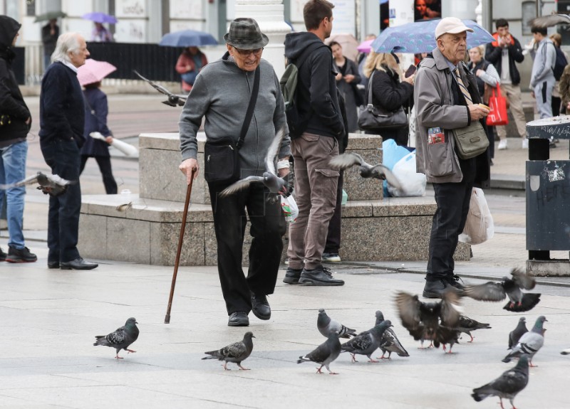
[[20, 26], [14, 18], [0, 16], [0, 115], [4, 115], [4, 125], [0, 125], [2, 148], [24, 141], [30, 129], [26, 124], [30, 110], [24, 102], [12, 70], [12, 60], [16, 56], [12, 50], [12, 41]]

